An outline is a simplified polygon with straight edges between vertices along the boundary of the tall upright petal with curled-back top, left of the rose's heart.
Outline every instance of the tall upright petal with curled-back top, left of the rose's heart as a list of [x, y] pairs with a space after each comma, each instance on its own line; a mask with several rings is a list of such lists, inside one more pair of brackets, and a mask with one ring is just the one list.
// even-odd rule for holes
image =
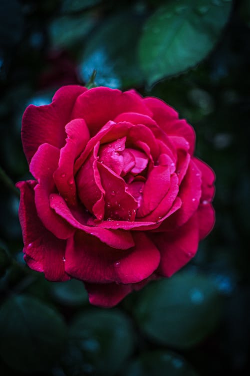
[[59, 167], [54, 172], [57, 190], [68, 205], [76, 205], [76, 189], [73, 176], [74, 160], [81, 153], [89, 140], [89, 131], [84, 120], [75, 119], [65, 127], [67, 138], [60, 150]]

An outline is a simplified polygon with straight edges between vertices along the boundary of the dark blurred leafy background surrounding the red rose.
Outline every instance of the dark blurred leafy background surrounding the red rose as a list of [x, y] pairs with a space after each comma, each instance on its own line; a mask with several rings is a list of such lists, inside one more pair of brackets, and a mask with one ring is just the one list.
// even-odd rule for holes
[[[249, 0], [0, 0], [1, 376], [250, 374], [249, 37]], [[94, 69], [173, 106], [216, 173], [194, 259], [108, 310], [26, 267], [12, 184], [30, 176], [25, 107]]]

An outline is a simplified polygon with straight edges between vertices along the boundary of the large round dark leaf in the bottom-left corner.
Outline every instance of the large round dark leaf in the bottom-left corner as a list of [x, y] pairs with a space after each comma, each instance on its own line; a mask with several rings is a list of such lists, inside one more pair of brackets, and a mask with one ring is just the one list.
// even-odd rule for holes
[[55, 363], [65, 325], [54, 309], [28, 296], [13, 296], [0, 309], [0, 355], [12, 368], [35, 372]]

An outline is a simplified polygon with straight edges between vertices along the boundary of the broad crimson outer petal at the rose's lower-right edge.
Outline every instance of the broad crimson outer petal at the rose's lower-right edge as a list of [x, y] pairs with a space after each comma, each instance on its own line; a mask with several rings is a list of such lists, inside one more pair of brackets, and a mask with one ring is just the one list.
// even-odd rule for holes
[[160, 252], [157, 272], [170, 277], [182, 268], [197, 251], [199, 238], [196, 214], [177, 230], [154, 234], [151, 239]]

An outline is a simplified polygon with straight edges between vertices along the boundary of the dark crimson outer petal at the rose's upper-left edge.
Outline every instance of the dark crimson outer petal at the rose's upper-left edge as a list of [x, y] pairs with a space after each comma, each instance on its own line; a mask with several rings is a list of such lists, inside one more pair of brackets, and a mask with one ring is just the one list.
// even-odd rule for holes
[[61, 148], [65, 143], [64, 127], [71, 120], [76, 98], [87, 89], [78, 85], [63, 86], [56, 91], [52, 103], [29, 105], [22, 117], [21, 139], [28, 163], [43, 143]]

